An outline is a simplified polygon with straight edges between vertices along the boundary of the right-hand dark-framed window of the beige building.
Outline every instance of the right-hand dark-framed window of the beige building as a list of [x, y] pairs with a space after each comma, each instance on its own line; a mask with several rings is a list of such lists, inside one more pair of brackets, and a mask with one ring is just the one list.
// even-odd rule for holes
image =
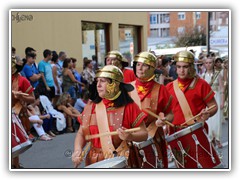
[[[128, 60], [129, 66], [135, 54], [141, 51], [140, 27], [119, 25], [119, 51]], [[130, 48], [133, 44], [133, 48]]]

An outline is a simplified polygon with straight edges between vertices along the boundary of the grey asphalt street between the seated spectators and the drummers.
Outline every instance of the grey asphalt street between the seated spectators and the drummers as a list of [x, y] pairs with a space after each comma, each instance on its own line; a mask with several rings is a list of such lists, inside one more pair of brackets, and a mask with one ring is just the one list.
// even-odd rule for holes
[[[223, 148], [216, 148], [224, 168], [229, 168], [229, 127], [228, 121], [223, 124]], [[20, 163], [25, 169], [70, 169], [73, 168], [71, 155], [73, 153], [76, 133], [57, 135], [51, 141], [37, 140], [33, 146], [20, 155]], [[84, 167], [84, 164], [80, 168]], [[169, 162], [169, 168], [176, 168], [174, 162]]]

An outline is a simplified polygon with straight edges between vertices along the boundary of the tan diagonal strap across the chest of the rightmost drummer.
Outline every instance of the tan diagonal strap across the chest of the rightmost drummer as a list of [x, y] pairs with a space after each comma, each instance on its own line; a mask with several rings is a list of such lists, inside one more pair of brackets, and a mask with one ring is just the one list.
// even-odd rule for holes
[[[195, 80], [195, 78], [193, 79], [193, 81], [194, 80]], [[173, 81], [173, 88], [174, 88], [174, 92], [177, 96], [179, 105], [182, 109], [185, 121], [192, 118], [193, 114], [192, 114], [191, 108], [187, 102], [186, 96], [183, 94], [182, 90], [178, 86], [178, 80]], [[188, 122], [187, 124], [188, 125], [194, 124], [194, 120]]]

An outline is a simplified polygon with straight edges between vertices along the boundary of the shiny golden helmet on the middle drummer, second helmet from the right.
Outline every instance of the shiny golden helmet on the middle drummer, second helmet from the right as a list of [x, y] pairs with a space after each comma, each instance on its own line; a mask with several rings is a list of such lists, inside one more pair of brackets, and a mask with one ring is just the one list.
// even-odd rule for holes
[[141, 53], [137, 54], [134, 57], [134, 62], [145, 63], [149, 66], [152, 66], [153, 68], [156, 68], [157, 58], [153, 53], [145, 51], [145, 52], [141, 52]]

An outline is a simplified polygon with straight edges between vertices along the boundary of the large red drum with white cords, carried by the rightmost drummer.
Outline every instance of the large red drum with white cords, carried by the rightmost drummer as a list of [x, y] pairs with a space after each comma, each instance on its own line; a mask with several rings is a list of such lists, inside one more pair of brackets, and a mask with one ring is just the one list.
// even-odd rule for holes
[[166, 137], [178, 168], [223, 168], [203, 126], [196, 123]]

